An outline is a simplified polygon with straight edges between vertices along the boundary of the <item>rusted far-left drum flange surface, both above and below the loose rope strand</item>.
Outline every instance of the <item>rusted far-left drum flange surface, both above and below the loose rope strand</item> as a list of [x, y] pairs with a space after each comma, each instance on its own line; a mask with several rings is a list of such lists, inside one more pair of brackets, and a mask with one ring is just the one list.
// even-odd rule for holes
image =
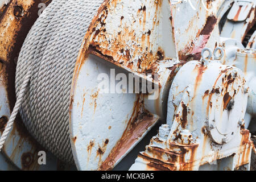
[[[2, 36], [0, 38], [0, 59], [3, 64], [1, 83], [3, 90], [5, 90], [5, 94], [2, 94], [2, 97], [7, 97], [7, 102], [2, 102], [6, 103], [6, 106], [2, 107], [1, 110], [8, 110], [8, 114], [5, 115], [6, 118], [10, 117], [10, 111], [13, 109], [15, 104], [15, 60], [18, 59], [19, 49], [30, 30], [30, 27], [36, 20], [38, 13], [37, 6], [39, 2], [40, 1], [37, 3], [34, 1], [10, 1], [7, 5], [3, 5], [1, 9], [0, 23]], [[31, 148], [23, 148], [24, 143], [31, 146]], [[3, 152], [5, 152], [6, 156], [8, 156], [9, 159], [20, 169], [35, 169], [34, 166], [38, 166], [37, 160], [32, 160], [30, 165], [26, 165], [26, 168], [24, 168], [24, 165], [22, 165], [22, 152], [24, 150], [26, 153], [31, 150], [33, 151], [32, 153], [34, 153], [34, 157], [36, 159], [36, 152], [39, 151], [39, 149], [38, 144], [36, 144], [36, 142], [26, 133], [26, 129], [22, 125], [22, 121], [20, 121], [20, 119], [16, 119], [14, 129], [3, 148]], [[32, 163], [34, 163], [34, 166]]]

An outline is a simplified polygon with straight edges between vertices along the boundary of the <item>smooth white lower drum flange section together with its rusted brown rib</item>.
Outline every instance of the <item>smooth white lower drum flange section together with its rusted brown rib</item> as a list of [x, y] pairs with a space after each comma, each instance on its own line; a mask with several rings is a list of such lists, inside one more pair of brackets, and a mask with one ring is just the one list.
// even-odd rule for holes
[[[115, 69], [113, 75], [110, 69]], [[112, 169], [158, 121], [158, 116], [143, 111], [139, 94], [111, 93], [110, 89], [102, 93], [98, 88], [99, 75], [109, 76], [110, 86], [110, 79], [127, 73], [123, 71], [95, 55], [89, 55], [76, 69], [69, 126], [80, 170]]]

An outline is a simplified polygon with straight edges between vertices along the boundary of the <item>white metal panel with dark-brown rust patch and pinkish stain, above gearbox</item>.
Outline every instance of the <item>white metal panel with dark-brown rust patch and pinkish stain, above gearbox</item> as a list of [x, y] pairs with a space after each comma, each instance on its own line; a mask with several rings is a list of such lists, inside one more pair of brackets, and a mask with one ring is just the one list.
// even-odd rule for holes
[[[218, 42], [217, 9], [223, 1], [195, 1], [193, 10], [189, 3], [171, 6], [172, 22], [179, 60], [200, 60], [205, 47], [214, 49]], [[180, 17], [184, 17], [180, 19]]]

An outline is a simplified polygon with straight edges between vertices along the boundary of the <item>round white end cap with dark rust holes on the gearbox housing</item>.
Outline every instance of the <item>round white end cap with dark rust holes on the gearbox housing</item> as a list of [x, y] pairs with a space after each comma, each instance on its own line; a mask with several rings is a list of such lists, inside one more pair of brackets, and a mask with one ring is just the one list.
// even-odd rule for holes
[[226, 69], [216, 80], [207, 109], [209, 134], [218, 144], [228, 143], [240, 131], [238, 122], [245, 116], [247, 102], [244, 86], [245, 79], [238, 69]]

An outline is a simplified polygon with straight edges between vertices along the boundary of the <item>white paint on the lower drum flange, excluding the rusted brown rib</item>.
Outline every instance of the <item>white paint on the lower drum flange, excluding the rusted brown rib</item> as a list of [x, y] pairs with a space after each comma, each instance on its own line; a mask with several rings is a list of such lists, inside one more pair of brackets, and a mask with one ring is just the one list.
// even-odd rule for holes
[[[115, 74], [111, 75], [110, 69], [115, 69]], [[129, 120], [135, 119], [133, 114], [136, 112], [134, 109], [140, 97], [138, 94], [111, 93], [110, 89], [109, 93], [102, 93], [102, 90], [98, 88], [102, 81], [97, 80], [100, 74], [109, 76], [109, 80], [106, 81], [109, 82], [109, 86], [112, 86], [110, 85], [110, 79], [114, 79], [114, 83], [118, 84], [119, 81], [115, 81], [115, 76], [118, 73], [127, 74], [122, 69], [94, 55], [90, 55], [88, 60], [80, 67], [73, 92], [70, 122], [71, 136], [73, 139], [75, 138], [75, 142], [72, 141], [73, 155], [77, 168], [80, 170], [100, 168], [118, 140], [122, 138], [130, 122]], [[157, 120], [158, 117], [155, 116], [155, 122]], [[154, 125], [147, 128], [144, 134], [152, 126]], [[120, 150], [122, 149], [120, 148]], [[119, 156], [118, 160], [121, 160], [123, 156]]]

